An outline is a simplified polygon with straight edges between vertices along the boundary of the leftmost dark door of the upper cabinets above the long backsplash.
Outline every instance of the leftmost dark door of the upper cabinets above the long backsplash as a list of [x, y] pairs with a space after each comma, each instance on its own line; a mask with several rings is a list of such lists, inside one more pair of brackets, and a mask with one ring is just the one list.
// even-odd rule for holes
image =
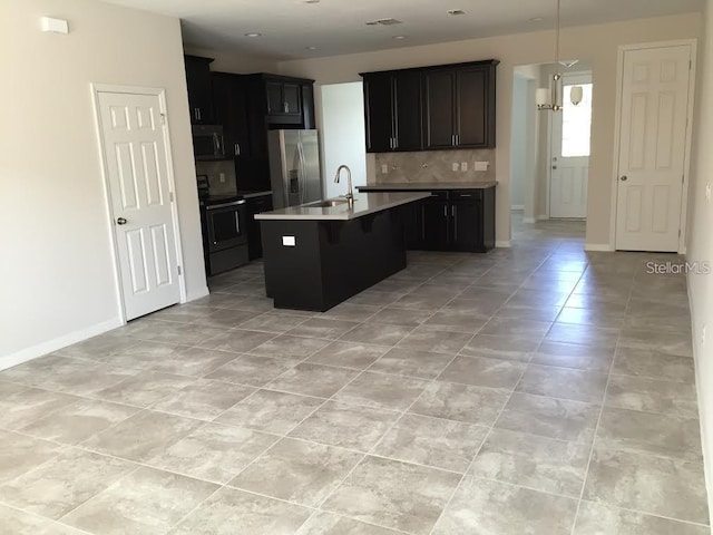
[[367, 121], [367, 152], [388, 153], [393, 144], [391, 113], [391, 76], [364, 77], [364, 118]]

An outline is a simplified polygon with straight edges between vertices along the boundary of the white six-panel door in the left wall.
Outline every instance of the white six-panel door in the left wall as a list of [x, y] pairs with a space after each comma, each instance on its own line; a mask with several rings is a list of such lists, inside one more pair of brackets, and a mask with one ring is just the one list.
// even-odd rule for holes
[[126, 320], [180, 300], [158, 95], [97, 93]]

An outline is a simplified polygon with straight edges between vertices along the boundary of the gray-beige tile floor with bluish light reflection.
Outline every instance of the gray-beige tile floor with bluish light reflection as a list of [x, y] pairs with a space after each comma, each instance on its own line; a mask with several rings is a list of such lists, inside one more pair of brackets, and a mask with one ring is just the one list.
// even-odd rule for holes
[[709, 533], [678, 259], [515, 231], [324, 314], [250, 265], [0, 373], [0, 531]]

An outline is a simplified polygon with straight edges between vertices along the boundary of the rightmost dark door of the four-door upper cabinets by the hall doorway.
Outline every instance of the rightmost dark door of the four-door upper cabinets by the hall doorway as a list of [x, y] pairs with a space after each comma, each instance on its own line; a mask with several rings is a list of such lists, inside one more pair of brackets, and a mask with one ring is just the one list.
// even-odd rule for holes
[[481, 67], [459, 70], [457, 80], [457, 145], [487, 147], [488, 70]]

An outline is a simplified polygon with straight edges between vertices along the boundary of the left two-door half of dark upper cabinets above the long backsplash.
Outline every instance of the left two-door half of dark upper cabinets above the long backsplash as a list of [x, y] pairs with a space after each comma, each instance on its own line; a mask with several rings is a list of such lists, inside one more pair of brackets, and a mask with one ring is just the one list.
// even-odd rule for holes
[[406, 70], [362, 76], [367, 152], [420, 150], [421, 75]]

